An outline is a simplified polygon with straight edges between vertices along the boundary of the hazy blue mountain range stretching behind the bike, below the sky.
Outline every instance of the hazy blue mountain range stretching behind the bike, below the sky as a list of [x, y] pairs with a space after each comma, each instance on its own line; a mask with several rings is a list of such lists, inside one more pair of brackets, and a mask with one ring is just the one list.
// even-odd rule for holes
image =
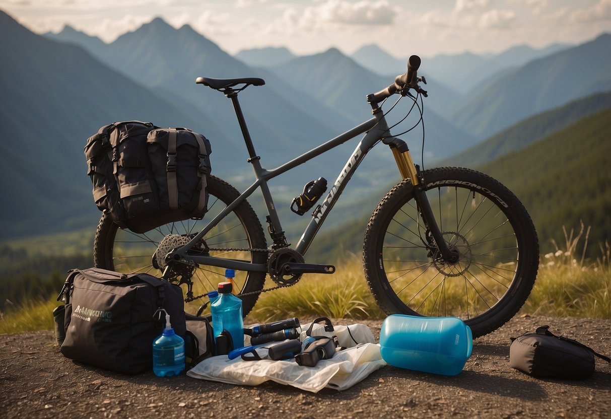
[[[0, 189], [7, 197], [7, 204], [0, 210], [3, 239], [66, 231], [92, 222], [95, 227], [99, 213], [91, 202], [82, 147], [101, 125], [118, 120], [147, 120], [202, 132], [213, 144], [213, 172], [243, 187], [243, 178], [252, 178], [252, 172], [244, 163], [247, 155], [230, 101], [221, 93], [196, 86], [197, 76], [265, 79], [265, 86], [249, 87], [240, 93], [255, 146], [265, 164], [287, 161], [370, 117], [365, 95], [392, 82], [392, 77], [378, 75], [334, 48], [306, 57], [285, 54], [288, 61], [273, 68], [251, 67], [191, 27], [175, 29], [161, 19], [106, 44], [70, 27], [59, 34], [37, 35], [0, 12], [0, 35], [4, 39], [0, 53], [5, 61], [0, 80], [4, 98], [0, 123], [7, 129], [5, 132], [11, 133], [10, 141], [7, 136], [3, 138], [0, 150], [5, 156], [0, 176], [11, 180]], [[604, 36], [609, 35], [602, 35], [603, 40], [608, 39]], [[538, 69], [534, 73], [536, 83], [549, 93], [557, 78], [553, 67], [549, 74], [543, 71], [545, 62], [558, 64], [562, 61], [558, 54], [568, 54], [565, 60], [581, 54], [586, 60], [581, 66], [588, 71], [580, 73], [580, 82], [591, 87], [582, 89], [581, 97], [611, 90], [606, 87], [606, 75], [611, 73], [607, 61], [590, 62], [590, 50], [607, 52], [606, 46], [597, 41], [540, 57], [509, 70], [510, 75], [539, 62], [533, 67]], [[426, 64], [423, 62], [419, 74], [426, 74]], [[484, 118], [494, 122], [486, 129], [473, 129], [473, 124], [463, 123], [466, 117], [459, 110], [472, 103], [475, 96], [467, 103], [458, 90], [433, 77], [427, 79], [429, 83], [423, 87], [429, 90], [429, 98], [423, 104], [425, 156], [429, 161], [439, 161], [474, 146], [482, 133], [496, 129], [489, 127], [499, 126], [496, 131], [500, 131], [510, 125], [489, 115], [486, 106], [480, 107], [480, 114], [475, 114], [473, 109], [477, 108], [472, 106], [464, 111], [472, 115], [471, 120], [480, 125]], [[497, 86], [492, 79], [489, 89]], [[596, 90], [598, 87], [600, 90]], [[571, 97], [543, 96], [548, 100], [541, 101], [539, 107], [548, 109], [562, 106]], [[511, 109], [514, 98], [505, 94], [494, 100], [483, 96], [481, 100], [489, 101], [495, 109]], [[518, 98], [519, 103], [522, 100]], [[403, 98], [389, 114], [389, 120], [400, 120], [410, 104], [409, 98]], [[457, 127], [456, 123], [463, 126]], [[415, 134], [405, 137], [418, 156], [422, 130], [418, 128]], [[295, 174], [274, 180], [271, 187], [281, 192], [279, 202], [284, 205], [309, 180], [319, 176], [333, 180], [353, 148], [354, 144], [342, 145], [334, 153], [295, 170]], [[351, 202], [362, 202], [368, 193], [395, 179], [397, 170], [393, 167], [386, 148], [376, 147], [346, 189], [345, 208], [350, 208]]]

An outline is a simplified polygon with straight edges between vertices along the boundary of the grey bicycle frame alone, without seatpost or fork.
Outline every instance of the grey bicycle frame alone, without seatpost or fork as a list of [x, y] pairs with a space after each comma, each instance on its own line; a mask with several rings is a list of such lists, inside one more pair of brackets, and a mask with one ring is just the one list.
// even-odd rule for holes
[[239, 271], [266, 272], [266, 264], [251, 263], [228, 258], [218, 258], [209, 255], [188, 255], [187, 252], [192, 246], [195, 246], [203, 238], [203, 236], [205, 236], [206, 233], [211, 230], [211, 228], [217, 225], [225, 216], [227, 216], [227, 214], [233, 211], [236, 206], [244, 202], [244, 200], [246, 200], [254, 191], [256, 191], [257, 188], [260, 188], [263, 194], [263, 200], [265, 201], [265, 205], [268, 210], [271, 225], [275, 231], [282, 231], [280, 219], [278, 217], [276, 207], [274, 206], [271, 192], [269, 191], [268, 181], [364, 133], [366, 133], [365, 136], [360, 140], [359, 144], [348, 158], [348, 161], [346, 161], [346, 165], [337, 176], [337, 180], [335, 180], [329, 194], [327, 194], [323, 203], [321, 203], [321, 205], [318, 206], [313, 212], [312, 220], [310, 220], [309, 224], [304, 230], [304, 233], [299, 239], [297, 246], [295, 247], [295, 250], [302, 255], [305, 255], [305, 252], [307, 251], [308, 247], [310, 247], [310, 244], [312, 244], [312, 241], [316, 236], [316, 232], [320, 229], [321, 225], [323, 225], [324, 220], [331, 212], [333, 206], [342, 194], [346, 184], [348, 184], [348, 181], [356, 171], [360, 162], [365, 158], [368, 151], [382, 139], [382, 137], [390, 136], [386, 118], [382, 112], [374, 114], [373, 118], [367, 122], [361, 123], [349, 131], [328, 140], [324, 144], [312, 148], [312, 150], [305, 152], [301, 156], [298, 156], [285, 164], [282, 164], [282, 166], [276, 167], [276, 169], [263, 169], [258, 158], [250, 159], [249, 161], [251, 162], [255, 172], [255, 182], [232, 203], [227, 205], [227, 207], [225, 207], [221, 213], [214, 217], [214, 219], [212, 219], [202, 230], [200, 230], [200, 232], [197, 233], [197, 235], [192, 238], [188, 244], [185, 244], [185, 246], [182, 246], [180, 249], [176, 249], [174, 252], [172, 252], [172, 257], [175, 260], [181, 260], [184, 258], [185, 260], [194, 261], [195, 263], [208, 266], [218, 266], [219, 268], [236, 269]]

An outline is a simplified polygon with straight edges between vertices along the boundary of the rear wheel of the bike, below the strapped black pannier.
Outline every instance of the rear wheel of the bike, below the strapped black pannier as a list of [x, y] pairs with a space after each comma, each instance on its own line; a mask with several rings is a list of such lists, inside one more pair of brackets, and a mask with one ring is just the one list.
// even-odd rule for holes
[[[103, 214], [93, 243], [95, 266], [123, 273], [146, 272], [161, 277], [164, 268], [163, 256], [172, 248], [186, 244], [189, 235], [195, 235], [208, 220], [213, 219], [240, 195], [229, 183], [214, 176], [208, 177], [207, 191], [210, 198], [208, 212], [203, 220], [187, 219], [172, 222], [142, 234], [120, 229], [108, 214]], [[260, 264], [265, 264], [267, 261], [268, 254], [265, 251], [267, 244], [263, 228], [257, 214], [246, 201], [236, 206], [235, 210], [209, 231], [203, 240], [210, 247], [210, 255], [214, 257]], [[205, 248], [203, 243], [200, 247]], [[160, 252], [157, 252], [158, 248]], [[214, 250], [215, 248], [232, 250]], [[155, 255], [156, 252], [158, 257]], [[235, 293], [240, 295], [262, 290], [265, 275], [265, 272], [236, 271]], [[194, 295], [199, 296], [207, 291], [216, 290], [218, 283], [224, 281], [224, 278], [224, 268], [196, 266], [191, 276]], [[183, 286], [186, 289], [186, 285]], [[244, 316], [252, 310], [257, 299], [258, 293], [242, 297]], [[194, 314], [200, 305], [207, 301], [208, 297], [203, 297], [188, 302], [185, 310]], [[203, 312], [204, 315], [208, 313], [210, 308]]]

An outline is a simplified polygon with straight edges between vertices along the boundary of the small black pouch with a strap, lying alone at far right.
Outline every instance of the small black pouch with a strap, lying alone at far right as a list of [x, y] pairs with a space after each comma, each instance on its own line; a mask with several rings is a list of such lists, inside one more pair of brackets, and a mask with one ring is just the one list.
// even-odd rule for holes
[[511, 338], [509, 360], [512, 368], [539, 378], [584, 379], [594, 374], [595, 355], [598, 354], [576, 340], [556, 336], [549, 326], [541, 326], [536, 333], [525, 333]]

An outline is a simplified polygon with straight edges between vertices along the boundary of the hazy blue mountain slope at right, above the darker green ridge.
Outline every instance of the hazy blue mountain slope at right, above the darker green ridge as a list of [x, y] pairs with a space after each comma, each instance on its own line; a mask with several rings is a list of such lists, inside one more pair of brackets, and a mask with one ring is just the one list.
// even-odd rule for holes
[[528, 62], [470, 96], [450, 116], [480, 139], [538, 112], [611, 90], [611, 34]]

